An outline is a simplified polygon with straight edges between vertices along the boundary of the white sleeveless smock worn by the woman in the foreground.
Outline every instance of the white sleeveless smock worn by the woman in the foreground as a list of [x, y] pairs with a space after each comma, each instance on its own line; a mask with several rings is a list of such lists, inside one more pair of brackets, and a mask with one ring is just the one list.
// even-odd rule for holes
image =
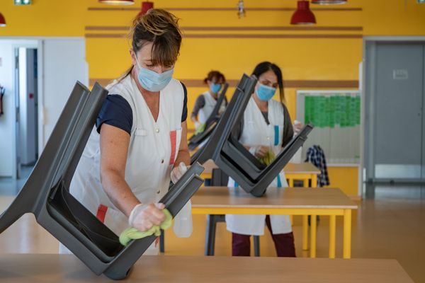
[[[125, 181], [140, 202], [145, 204], [159, 202], [169, 189], [170, 173], [179, 152], [183, 86], [173, 79], [160, 92], [157, 122], [154, 121], [145, 99], [131, 76], [126, 76], [119, 83], [114, 81], [106, 88], [111, 94], [123, 96], [132, 109], [133, 122]], [[101, 185], [99, 137], [95, 127], [77, 166], [70, 192], [109, 229], [120, 235], [128, 228], [128, 218], [109, 200]], [[188, 202], [183, 207], [176, 217], [175, 225], [180, 224], [181, 216], [191, 221], [190, 206]], [[191, 231], [186, 231], [186, 235], [190, 233]], [[147, 253], [157, 254], [157, 244], [157, 241], [153, 243]]]

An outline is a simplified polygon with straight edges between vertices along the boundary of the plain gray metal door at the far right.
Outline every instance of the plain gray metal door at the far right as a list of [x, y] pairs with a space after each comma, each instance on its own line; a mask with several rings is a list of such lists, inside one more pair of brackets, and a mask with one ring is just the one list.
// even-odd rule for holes
[[418, 180], [424, 171], [424, 45], [377, 42], [374, 178]]

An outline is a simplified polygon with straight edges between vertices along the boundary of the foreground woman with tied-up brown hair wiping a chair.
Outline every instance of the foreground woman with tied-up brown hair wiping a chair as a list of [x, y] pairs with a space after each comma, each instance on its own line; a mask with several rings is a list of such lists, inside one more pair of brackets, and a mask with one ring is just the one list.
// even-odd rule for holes
[[[166, 216], [158, 202], [190, 162], [186, 87], [172, 79], [181, 45], [178, 19], [151, 9], [135, 18], [131, 35], [132, 66], [106, 87], [109, 95], [70, 185], [117, 235], [128, 226], [146, 231], [160, 225]], [[177, 236], [191, 234], [190, 202], [174, 224]], [[157, 243], [148, 249], [157, 251]]]

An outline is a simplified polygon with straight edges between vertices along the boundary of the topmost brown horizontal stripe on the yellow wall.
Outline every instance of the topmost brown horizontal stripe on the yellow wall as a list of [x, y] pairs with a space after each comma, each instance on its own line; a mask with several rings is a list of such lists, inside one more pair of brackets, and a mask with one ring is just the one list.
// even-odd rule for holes
[[[193, 8], [163, 8], [167, 11], [237, 11], [237, 8], [208, 8], [208, 7], [193, 7]], [[127, 7], [89, 7], [88, 11], [140, 11], [140, 8], [127, 8]], [[363, 11], [362, 8], [311, 8], [312, 11]], [[283, 8], [283, 7], [269, 7], [269, 8], [245, 8], [245, 11], [295, 11], [295, 7], [293, 8]]]

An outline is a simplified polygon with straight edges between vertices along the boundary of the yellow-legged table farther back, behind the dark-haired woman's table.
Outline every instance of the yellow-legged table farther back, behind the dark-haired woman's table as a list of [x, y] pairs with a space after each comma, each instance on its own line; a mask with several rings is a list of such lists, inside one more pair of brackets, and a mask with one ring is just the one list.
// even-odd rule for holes
[[[211, 159], [203, 163], [205, 170], [201, 175], [204, 179], [210, 179], [212, 176], [212, 169], [218, 168], [214, 161]], [[288, 163], [285, 168], [285, 177], [288, 179], [289, 187], [294, 186], [294, 180], [302, 180], [303, 187], [317, 187], [317, 175], [320, 173], [319, 169], [312, 163]], [[302, 250], [308, 250], [308, 215], [302, 216]], [[316, 219], [314, 219], [316, 221]], [[331, 217], [330, 221], [334, 221]], [[293, 223], [293, 217], [290, 217], [290, 222]]]

